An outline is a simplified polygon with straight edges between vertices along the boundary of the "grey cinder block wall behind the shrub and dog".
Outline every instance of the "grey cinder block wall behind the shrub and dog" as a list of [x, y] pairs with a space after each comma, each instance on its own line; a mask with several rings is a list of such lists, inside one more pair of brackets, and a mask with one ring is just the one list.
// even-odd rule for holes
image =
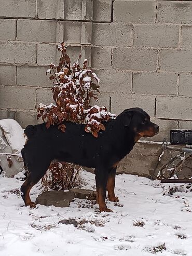
[[101, 79], [99, 104], [139, 106], [160, 125], [192, 128], [192, 2], [0, 0], [0, 118], [36, 123], [52, 101], [48, 65], [57, 44], [79, 52]]

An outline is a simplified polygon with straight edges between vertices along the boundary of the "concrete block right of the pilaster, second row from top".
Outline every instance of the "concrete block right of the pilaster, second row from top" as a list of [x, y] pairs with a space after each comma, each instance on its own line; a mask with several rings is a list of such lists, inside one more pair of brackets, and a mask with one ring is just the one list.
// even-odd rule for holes
[[92, 44], [101, 46], [132, 46], [132, 25], [93, 23]]

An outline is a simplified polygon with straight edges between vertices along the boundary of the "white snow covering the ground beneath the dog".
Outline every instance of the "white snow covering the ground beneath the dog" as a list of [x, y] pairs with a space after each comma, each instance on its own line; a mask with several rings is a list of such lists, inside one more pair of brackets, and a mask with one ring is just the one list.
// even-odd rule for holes
[[[95, 188], [93, 174], [82, 176], [85, 188]], [[116, 178], [118, 206], [107, 200], [114, 212], [100, 213], [97, 204], [80, 199], [67, 208], [25, 207], [18, 177], [0, 177], [1, 256], [145, 256], [164, 243], [166, 250], [156, 255], [192, 255], [192, 192], [187, 185], [182, 185], [183, 192], [172, 189], [171, 195], [169, 184], [121, 174]], [[38, 183], [32, 200], [40, 191]], [[78, 226], [58, 224], [69, 218]]]

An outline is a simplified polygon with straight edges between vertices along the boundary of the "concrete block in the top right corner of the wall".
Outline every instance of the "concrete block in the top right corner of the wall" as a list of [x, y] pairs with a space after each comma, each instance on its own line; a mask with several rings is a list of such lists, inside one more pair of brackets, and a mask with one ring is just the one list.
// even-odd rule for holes
[[157, 22], [192, 24], [192, 2], [158, 1]]

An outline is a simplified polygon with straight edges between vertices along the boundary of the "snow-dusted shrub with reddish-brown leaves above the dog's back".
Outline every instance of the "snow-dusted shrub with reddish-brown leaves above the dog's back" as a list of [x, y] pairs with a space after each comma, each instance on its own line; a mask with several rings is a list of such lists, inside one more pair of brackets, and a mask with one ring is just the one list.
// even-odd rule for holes
[[115, 118], [115, 115], [107, 112], [105, 106], [91, 106], [91, 98], [98, 100], [99, 78], [88, 68], [87, 59], [84, 60], [83, 68], [79, 61], [75, 62], [71, 69], [70, 57], [66, 54], [64, 43], [59, 45], [61, 58], [59, 65], [50, 65], [47, 74], [53, 80], [53, 99], [56, 104], [39, 104], [37, 118], [47, 120], [46, 127], [59, 124], [59, 129], [65, 131], [64, 120], [74, 123], [86, 124], [85, 130], [98, 137], [98, 132], [104, 130], [102, 121]]

